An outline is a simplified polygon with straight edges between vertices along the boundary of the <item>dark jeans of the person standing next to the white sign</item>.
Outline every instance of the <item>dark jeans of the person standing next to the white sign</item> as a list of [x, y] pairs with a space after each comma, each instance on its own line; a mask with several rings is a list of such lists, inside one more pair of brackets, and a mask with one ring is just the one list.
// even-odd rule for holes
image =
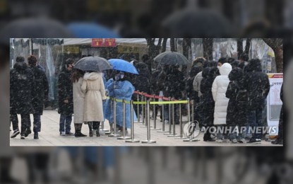
[[263, 108], [256, 108], [255, 110], [250, 110], [248, 113], [249, 126], [255, 132], [251, 132], [252, 139], [261, 139], [262, 130], [258, 131], [257, 127], [263, 128]]

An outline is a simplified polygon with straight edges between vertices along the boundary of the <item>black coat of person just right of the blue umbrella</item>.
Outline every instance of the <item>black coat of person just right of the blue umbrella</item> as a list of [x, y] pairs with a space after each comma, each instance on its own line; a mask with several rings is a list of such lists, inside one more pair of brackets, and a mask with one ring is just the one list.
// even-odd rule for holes
[[143, 62], [138, 62], [135, 67], [138, 70], [138, 75], [135, 76], [132, 82], [134, 88], [150, 94], [150, 71], [148, 70], [148, 65]]

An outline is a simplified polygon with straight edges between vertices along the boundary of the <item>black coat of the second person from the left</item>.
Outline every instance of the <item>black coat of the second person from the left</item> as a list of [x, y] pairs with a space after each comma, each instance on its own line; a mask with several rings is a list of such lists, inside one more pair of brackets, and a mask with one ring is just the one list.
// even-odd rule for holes
[[31, 67], [30, 69], [35, 76], [35, 88], [32, 91], [32, 107], [34, 109], [34, 113], [42, 115], [44, 102], [48, 99], [48, 80], [42, 69], [37, 67]]

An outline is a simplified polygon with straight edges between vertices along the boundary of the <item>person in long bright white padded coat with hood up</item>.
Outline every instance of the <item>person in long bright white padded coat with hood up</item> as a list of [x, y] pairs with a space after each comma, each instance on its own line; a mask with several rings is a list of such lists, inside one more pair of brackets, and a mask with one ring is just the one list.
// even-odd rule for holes
[[[220, 76], [215, 78], [212, 87], [213, 99], [215, 101], [214, 125], [223, 128], [226, 125], [227, 107], [229, 98], [226, 98], [226, 91], [229, 85], [229, 73], [232, 71], [232, 66], [225, 63], [220, 67]], [[222, 142], [223, 134], [217, 132], [217, 142]]]

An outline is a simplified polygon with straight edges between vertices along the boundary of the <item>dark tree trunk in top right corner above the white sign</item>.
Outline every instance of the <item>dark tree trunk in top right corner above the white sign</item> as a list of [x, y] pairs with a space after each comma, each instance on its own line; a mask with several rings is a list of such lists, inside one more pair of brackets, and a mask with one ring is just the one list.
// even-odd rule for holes
[[263, 41], [275, 52], [277, 73], [283, 72], [283, 40], [280, 38], [263, 38]]

